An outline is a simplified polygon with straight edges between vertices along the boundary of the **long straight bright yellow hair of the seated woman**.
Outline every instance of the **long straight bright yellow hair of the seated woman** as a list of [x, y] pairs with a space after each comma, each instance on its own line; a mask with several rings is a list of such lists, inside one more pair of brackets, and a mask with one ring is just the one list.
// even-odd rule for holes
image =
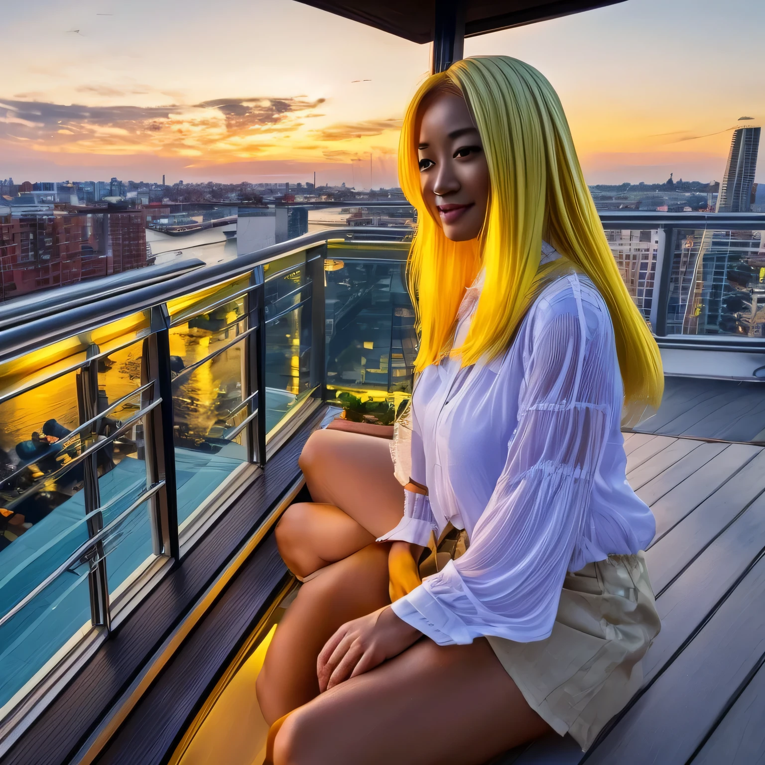
[[[490, 201], [478, 239], [451, 242], [420, 189], [418, 110], [438, 87], [463, 93], [483, 142]], [[399, 145], [402, 189], [418, 212], [409, 253], [409, 290], [420, 347], [415, 370], [451, 349], [457, 308], [481, 265], [486, 277], [462, 364], [503, 353], [539, 283], [542, 239], [587, 274], [610, 311], [630, 420], [658, 407], [664, 388], [659, 348], [620, 277], [552, 85], [533, 67], [506, 56], [457, 61], [429, 77], [407, 109]], [[456, 349], [455, 349], [456, 350]], [[454, 352], [455, 350], [452, 350]]]

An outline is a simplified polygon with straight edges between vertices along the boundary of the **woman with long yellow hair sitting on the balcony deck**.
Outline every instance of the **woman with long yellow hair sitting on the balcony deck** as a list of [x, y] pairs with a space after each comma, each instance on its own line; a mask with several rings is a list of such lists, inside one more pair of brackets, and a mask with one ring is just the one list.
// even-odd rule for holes
[[[620, 432], [661, 399], [656, 343], [532, 67], [428, 79], [399, 176], [421, 334], [404, 516], [385, 441], [311, 437], [317, 504], [277, 529], [307, 581], [259, 678], [273, 760], [483, 763], [551, 729], [586, 749], [659, 631]], [[421, 583], [449, 522], [470, 546]]]

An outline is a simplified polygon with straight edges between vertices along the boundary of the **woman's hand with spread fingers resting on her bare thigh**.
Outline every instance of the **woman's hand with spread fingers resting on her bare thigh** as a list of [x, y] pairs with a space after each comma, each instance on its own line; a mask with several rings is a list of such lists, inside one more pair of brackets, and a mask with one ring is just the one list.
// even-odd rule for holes
[[399, 619], [390, 606], [347, 622], [327, 640], [316, 662], [319, 690], [369, 672], [409, 648], [422, 632]]

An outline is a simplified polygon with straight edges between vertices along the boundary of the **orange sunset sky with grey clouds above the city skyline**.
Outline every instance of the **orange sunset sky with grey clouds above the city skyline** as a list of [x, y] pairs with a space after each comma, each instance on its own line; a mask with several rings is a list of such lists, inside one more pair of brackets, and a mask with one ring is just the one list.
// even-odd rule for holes
[[[0, 177], [396, 185], [429, 47], [293, 0], [3, 3]], [[466, 41], [539, 68], [588, 182], [720, 180], [765, 2], [627, 0]], [[757, 180], [765, 182], [765, 147]]]

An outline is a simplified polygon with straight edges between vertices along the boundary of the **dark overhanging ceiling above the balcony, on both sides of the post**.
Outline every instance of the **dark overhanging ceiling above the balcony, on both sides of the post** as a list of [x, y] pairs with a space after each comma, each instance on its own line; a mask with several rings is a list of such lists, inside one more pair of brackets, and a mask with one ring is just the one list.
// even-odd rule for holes
[[[415, 43], [433, 40], [435, 0], [301, 0]], [[623, 0], [467, 0], [465, 36], [520, 27]]]

